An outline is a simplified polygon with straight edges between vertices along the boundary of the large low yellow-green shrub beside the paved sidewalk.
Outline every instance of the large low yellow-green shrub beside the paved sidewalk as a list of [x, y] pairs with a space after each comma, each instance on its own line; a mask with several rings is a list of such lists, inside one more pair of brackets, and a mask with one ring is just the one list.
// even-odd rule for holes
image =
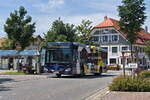
[[109, 89], [111, 91], [150, 92], [150, 80], [119, 76], [113, 80]]

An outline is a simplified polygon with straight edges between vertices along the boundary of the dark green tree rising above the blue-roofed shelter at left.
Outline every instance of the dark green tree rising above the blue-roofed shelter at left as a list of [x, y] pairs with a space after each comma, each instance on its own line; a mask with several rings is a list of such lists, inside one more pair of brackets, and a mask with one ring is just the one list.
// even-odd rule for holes
[[7, 18], [4, 25], [4, 31], [15, 45], [13, 47], [16, 48], [19, 45], [22, 50], [30, 45], [30, 40], [35, 32], [35, 23], [31, 23], [32, 17], [26, 16], [26, 14], [27, 11], [21, 6], [18, 11], [10, 13], [10, 17]]

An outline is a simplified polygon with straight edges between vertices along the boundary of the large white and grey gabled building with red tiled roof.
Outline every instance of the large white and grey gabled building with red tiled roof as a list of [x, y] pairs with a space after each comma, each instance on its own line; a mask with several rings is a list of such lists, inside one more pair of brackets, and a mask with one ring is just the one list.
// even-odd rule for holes
[[[131, 49], [126, 34], [121, 31], [119, 21], [105, 16], [104, 21], [93, 28], [92, 34], [93, 41], [108, 51], [107, 61], [104, 62], [108, 65], [123, 66], [122, 51], [130, 51]], [[133, 44], [134, 60], [141, 67], [148, 66], [149, 59], [144, 53], [144, 46], [148, 40], [150, 40], [150, 33], [141, 28], [137, 40]], [[127, 67], [131, 62], [131, 54], [125, 53], [125, 57]]]

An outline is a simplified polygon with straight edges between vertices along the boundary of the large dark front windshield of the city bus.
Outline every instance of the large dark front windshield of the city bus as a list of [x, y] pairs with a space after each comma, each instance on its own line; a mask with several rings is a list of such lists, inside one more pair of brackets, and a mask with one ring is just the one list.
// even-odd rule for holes
[[72, 51], [69, 48], [50, 49], [47, 52], [48, 63], [69, 63], [72, 61]]

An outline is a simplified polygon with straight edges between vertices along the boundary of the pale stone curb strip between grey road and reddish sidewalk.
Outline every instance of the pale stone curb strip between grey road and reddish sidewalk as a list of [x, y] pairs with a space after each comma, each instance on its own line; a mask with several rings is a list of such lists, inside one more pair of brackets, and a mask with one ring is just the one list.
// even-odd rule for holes
[[86, 97], [84, 100], [101, 100], [101, 98], [107, 95], [109, 92], [110, 91], [108, 87], [106, 87], [101, 90], [98, 90], [98, 92], [95, 92], [93, 95]]

